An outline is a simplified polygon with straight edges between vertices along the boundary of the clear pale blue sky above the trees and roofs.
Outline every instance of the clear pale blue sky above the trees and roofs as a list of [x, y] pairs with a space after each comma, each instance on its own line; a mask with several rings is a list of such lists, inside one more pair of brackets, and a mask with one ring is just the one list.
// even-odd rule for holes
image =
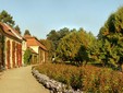
[[83, 27], [95, 36], [123, 0], [0, 0], [0, 12], [13, 16], [22, 34], [29, 30], [39, 39], [51, 30]]

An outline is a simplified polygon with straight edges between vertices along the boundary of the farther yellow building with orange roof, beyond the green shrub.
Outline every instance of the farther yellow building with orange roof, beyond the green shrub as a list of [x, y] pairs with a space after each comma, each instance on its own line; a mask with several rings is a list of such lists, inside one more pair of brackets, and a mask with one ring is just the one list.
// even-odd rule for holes
[[26, 39], [27, 47], [29, 47], [33, 51], [32, 62], [45, 62], [47, 56], [46, 47], [34, 36], [25, 35], [24, 38]]

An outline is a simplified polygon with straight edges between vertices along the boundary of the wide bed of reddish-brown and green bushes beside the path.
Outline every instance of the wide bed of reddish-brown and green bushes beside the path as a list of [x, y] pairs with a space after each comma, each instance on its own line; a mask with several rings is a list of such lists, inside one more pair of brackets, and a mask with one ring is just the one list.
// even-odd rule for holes
[[74, 90], [79, 89], [93, 93], [123, 92], [123, 74], [108, 68], [45, 63], [36, 67], [36, 69]]

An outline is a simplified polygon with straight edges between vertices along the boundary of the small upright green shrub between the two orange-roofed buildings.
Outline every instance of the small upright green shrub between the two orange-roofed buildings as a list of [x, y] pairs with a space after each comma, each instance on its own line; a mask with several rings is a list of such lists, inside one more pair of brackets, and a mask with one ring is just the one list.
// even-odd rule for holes
[[32, 50], [27, 48], [24, 53], [24, 63], [30, 65], [30, 60], [32, 60]]

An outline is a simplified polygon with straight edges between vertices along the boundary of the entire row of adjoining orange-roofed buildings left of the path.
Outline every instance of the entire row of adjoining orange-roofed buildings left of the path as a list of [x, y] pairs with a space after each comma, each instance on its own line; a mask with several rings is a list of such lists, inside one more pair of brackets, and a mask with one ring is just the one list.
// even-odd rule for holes
[[0, 69], [23, 66], [27, 48], [32, 51], [32, 63], [42, 63], [47, 60], [47, 49], [36, 37], [22, 37], [17, 31], [0, 22]]

